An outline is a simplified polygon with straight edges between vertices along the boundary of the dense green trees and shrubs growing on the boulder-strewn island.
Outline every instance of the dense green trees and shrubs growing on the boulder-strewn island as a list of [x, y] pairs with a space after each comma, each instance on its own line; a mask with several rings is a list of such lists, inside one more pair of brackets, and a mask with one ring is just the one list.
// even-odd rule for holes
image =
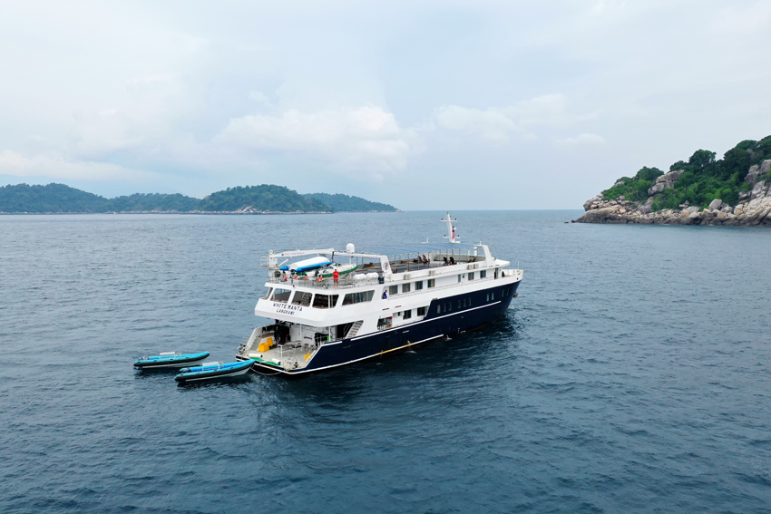
[[[742, 141], [728, 150], [722, 160], [716, 160], [716, 156], [714, 151], [697, 150], [688, 162], [678, 160], [672, 164], [669, 171], [683, 170], [683, 173], [674, 182], [674, 188], [664, 189], [655, 197], [651, 208], [678, 209], [686, 201], [689, 205], [707, 207], [713, 199], [721, 199], [731, 206], [737, 205], [739, 193], [752, 188], [752, 184], [744, 181], [749, 168], [771, 159], [771, 136], [760, 141]], [[622, 177], [617, 183], [622, 181], [623, 184], [606, 189], [602, 194], [605, 199], [624, 197], [631, 201], [645, 202], [648, 189], [661, 174], [661, 170], [656, 168], [643, 168], [632, 178]], [[761, 176], [756, 180], [763, 179], [771, 177]]]

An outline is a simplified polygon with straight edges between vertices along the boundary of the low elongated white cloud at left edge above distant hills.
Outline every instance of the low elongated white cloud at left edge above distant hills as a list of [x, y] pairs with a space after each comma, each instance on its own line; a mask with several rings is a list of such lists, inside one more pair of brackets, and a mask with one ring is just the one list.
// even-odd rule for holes
[[139, 181], [151, 179], [153, 174], [107, 162], [65, 160], [62, 157], [46, 155], [28, 158], [12, 150], [3, 150], [0, 152], [0, 175], [73, 180]]

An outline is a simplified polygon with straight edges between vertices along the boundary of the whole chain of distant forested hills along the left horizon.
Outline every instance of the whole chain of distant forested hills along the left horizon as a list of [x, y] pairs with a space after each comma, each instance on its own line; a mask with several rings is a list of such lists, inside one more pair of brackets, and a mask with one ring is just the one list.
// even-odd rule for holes
[[[323, 194], [323, 193], [322, 193]], [[63, 184], [0, 187], [0, 213], [99, 213], [99, 212], [334, 212], [336, 210], [395, 210], [393, 207], [346, 195], [301, 195], [282, 186], [229, 188], [204, 199], [181, 194], [135, 193], [105, 199]]]

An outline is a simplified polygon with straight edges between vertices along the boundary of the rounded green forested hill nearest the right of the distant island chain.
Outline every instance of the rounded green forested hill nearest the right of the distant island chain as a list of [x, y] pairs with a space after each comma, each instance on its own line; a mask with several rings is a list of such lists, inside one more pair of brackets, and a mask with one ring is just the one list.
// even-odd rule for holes
[[197, 210], [230, 211], [251, 207], [271, 212], [331, 212], [324, 202], [307, 198], [283, 186], [247, 186], [211, 193]]

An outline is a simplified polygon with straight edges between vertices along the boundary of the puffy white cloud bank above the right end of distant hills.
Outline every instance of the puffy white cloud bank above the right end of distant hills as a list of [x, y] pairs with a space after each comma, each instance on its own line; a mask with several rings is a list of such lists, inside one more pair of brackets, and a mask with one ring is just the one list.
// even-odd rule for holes
[[381, 176], [405, 168], [417, 136], [414, 130], [400, 128], [393, 113], [365, 105], [243, 116], [230, 120], [217, 140], [255, 150], [299, 151]]

